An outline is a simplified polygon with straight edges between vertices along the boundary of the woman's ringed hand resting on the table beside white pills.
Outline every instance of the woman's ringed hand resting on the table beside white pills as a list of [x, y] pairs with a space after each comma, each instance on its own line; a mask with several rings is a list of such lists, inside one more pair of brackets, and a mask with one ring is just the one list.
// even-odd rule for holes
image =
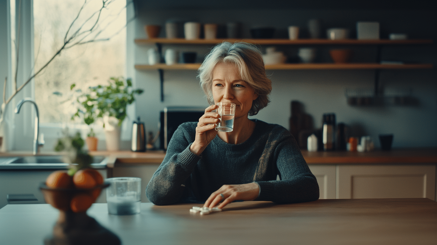
[[242, 185], [223, 185], [208, 197], [203, 207], [223, 208], [235, 200], [253, 201], [260, 193], [260, 186], [253, 182]]

